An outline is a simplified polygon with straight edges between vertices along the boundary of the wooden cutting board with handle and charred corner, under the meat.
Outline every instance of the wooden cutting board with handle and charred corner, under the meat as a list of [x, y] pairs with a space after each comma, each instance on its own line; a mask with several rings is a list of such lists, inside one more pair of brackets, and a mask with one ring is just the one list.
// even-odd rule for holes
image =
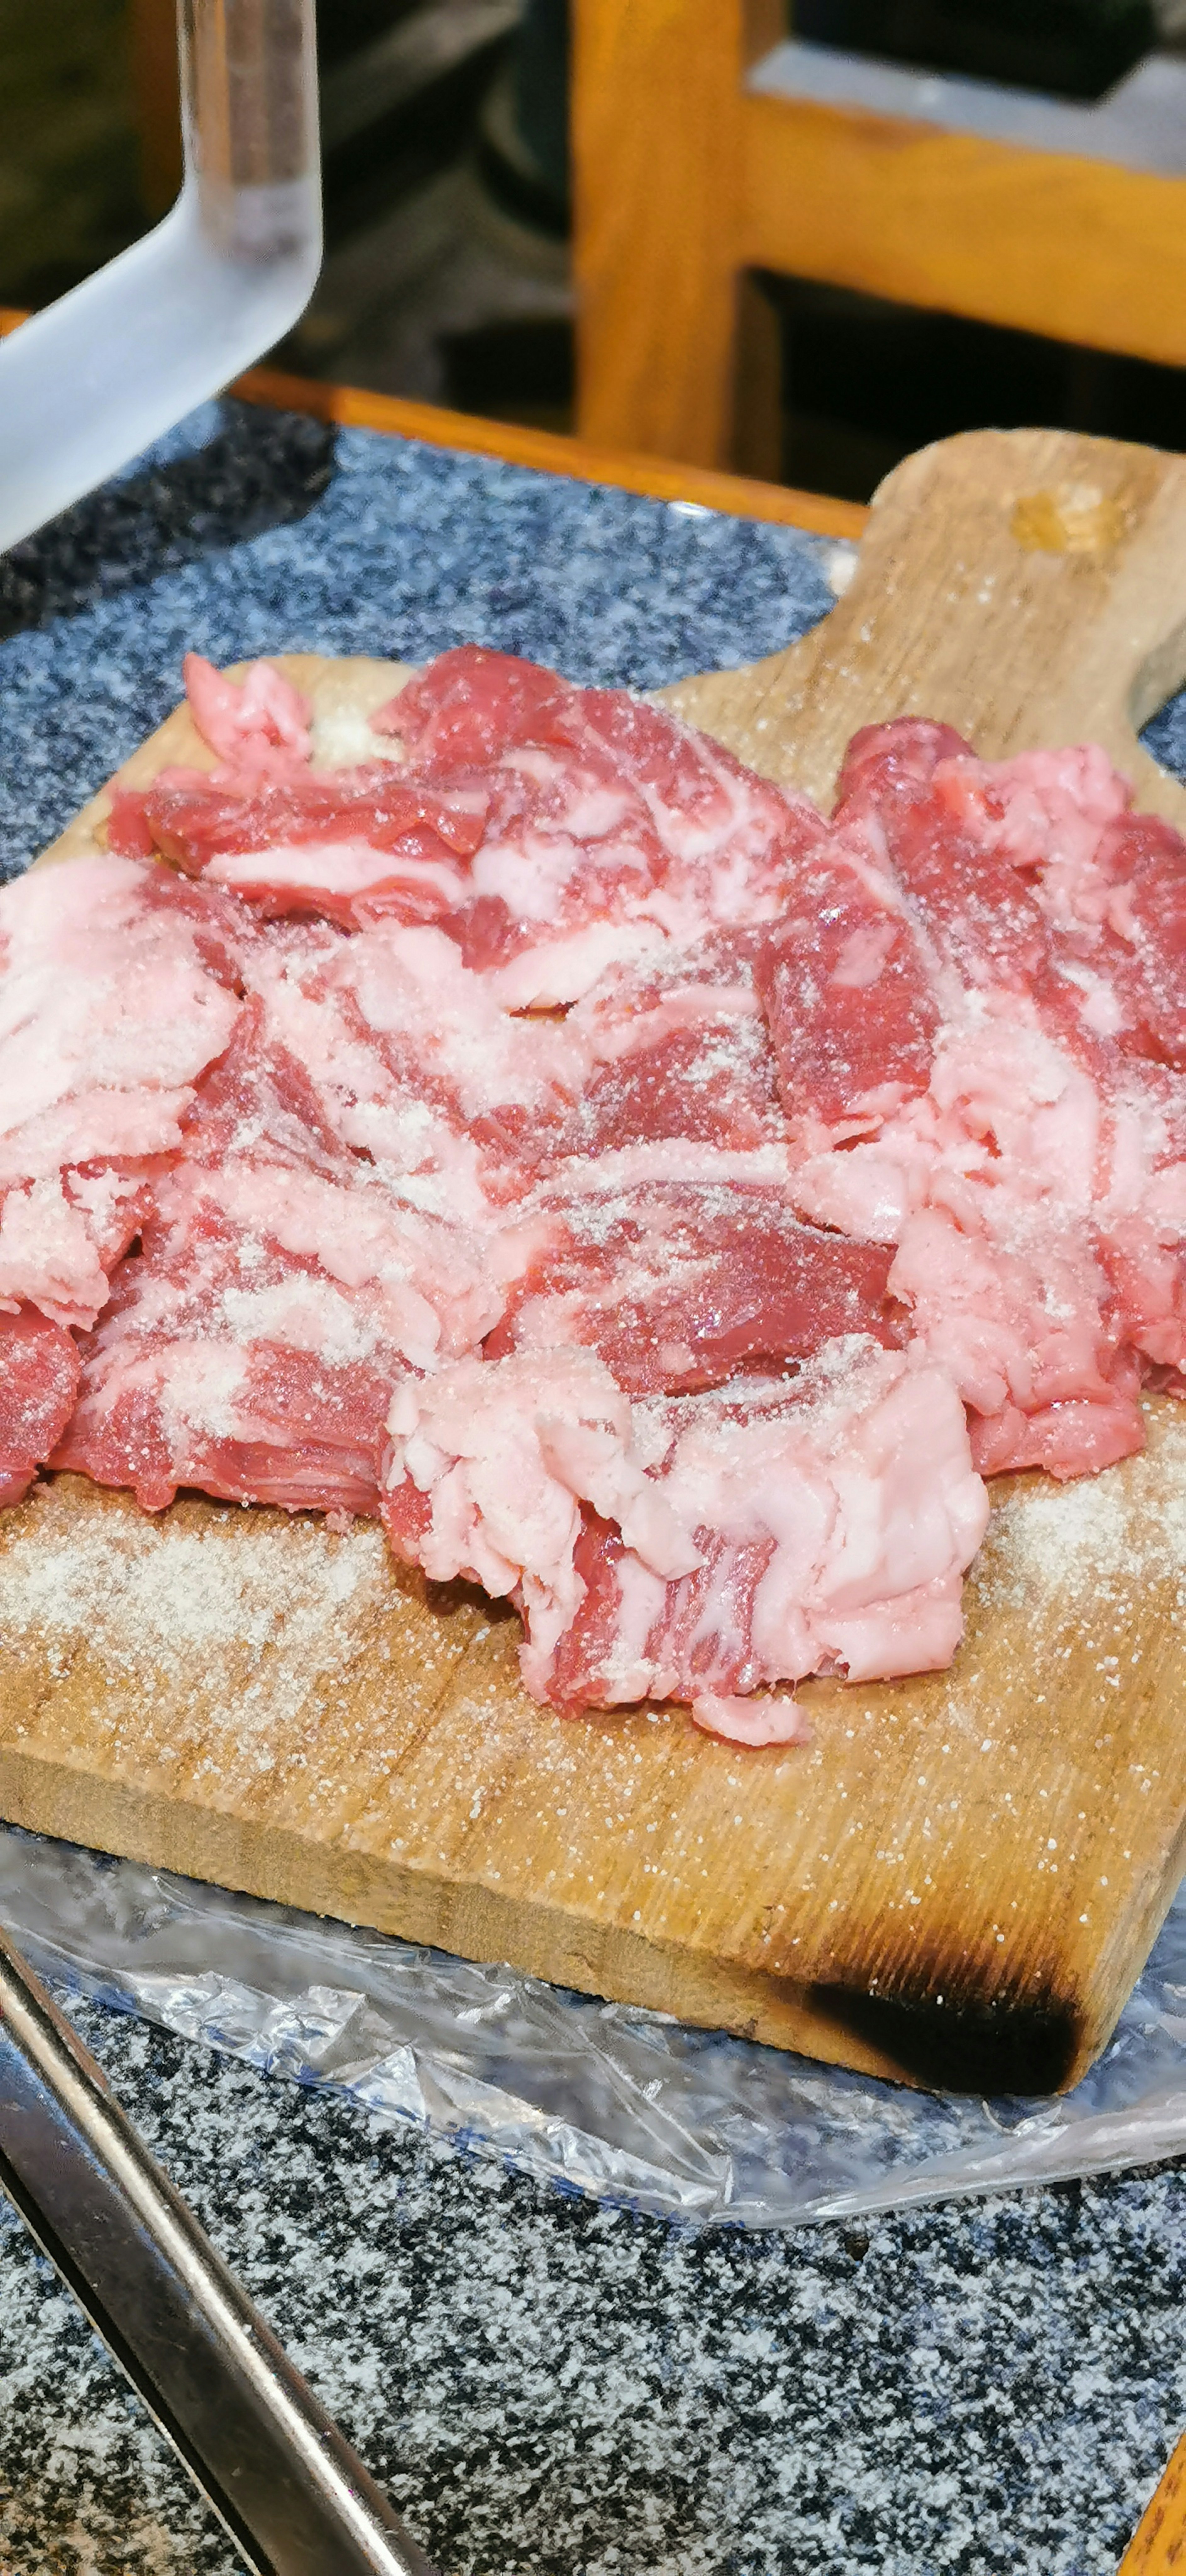
[[[298, 672], [319, 703], [394, 685]], [[988, 755], [1091, 734], [1186, 824], [1135, 742], [1183, 677], [1186, 461], [978, 433], [890, 477], [816, 634], [666, 698], [821, 799], [880, 716]], [[998, 1486], [952, 1672], [808, 1685], [808, 1752], [679, 1708], [553, 1718], [515, 1615], [394, 1569], [370, 1525], [149, 1520], [49, 1479], [0, 1520], [0, 1808], [846, 2066], [1068, 2087], [1186, 1860], [1186, 1406], [1147, 1417], [1099, 1481]]]

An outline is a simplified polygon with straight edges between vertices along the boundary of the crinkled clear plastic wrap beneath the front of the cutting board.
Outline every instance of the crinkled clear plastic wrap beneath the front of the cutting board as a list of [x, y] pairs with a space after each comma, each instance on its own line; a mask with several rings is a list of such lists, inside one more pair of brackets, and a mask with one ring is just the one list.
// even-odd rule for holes
[[1186, 1886], [1055, 2102], [911, 2092], [15, 1826], [0, 1919], [67, 1989], [661, 2218], [785, 2228], [1186, 2151]]

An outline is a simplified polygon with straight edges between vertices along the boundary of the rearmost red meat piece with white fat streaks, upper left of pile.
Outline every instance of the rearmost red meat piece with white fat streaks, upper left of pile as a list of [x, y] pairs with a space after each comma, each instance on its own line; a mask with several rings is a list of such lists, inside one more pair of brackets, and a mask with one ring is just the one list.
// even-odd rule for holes
[[334, 775], [309, 770], [304, 706], [270, 665], [239, 688], [190, 657], [188, 680], [224, 765], [121, 791], [111, 848], [160, 850], [265, 917], [442, 922], [512, 1010], [571, 1002], [666, 940], [774, 920], [823, 835], [803, 799], [666, 711], [481, 647], [373, 719], [406, 762]]

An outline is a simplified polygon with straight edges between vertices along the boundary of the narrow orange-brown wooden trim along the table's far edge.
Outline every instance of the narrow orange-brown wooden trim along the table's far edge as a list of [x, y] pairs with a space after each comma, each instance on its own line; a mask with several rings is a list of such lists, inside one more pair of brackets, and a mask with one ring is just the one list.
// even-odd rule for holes
[[[0, 307], [0, 337], [26, 319], [23, 312]], [[419, 438], [432, 448], [494, 456], [509, 466], [533, 466], [538, 474], [610, 484], [617, 492], [641, 492], [646, 500], [677, 500], [700, 510], [720, 510], [725, 518], [772, 520], [782, 528], [803, 528], [808, 536], [859, 538], [870, 518], [862, 502], [834, 500], [828, 492], [798, 492], [790, 484], [718, 474], [664, 456], [625, 456], [617, 448], [587, 446], [584, 438], [563, 438], [558, 430], [479, 420], [471, 412], [448, 412], [435, 402], [368, 394], [352, 384], [286, 376], [270, 366], [252, 366], [226, 392], [237, 394], [239, 402], [257, 402], [275, 412], [304, 412], [350, 430]]]

